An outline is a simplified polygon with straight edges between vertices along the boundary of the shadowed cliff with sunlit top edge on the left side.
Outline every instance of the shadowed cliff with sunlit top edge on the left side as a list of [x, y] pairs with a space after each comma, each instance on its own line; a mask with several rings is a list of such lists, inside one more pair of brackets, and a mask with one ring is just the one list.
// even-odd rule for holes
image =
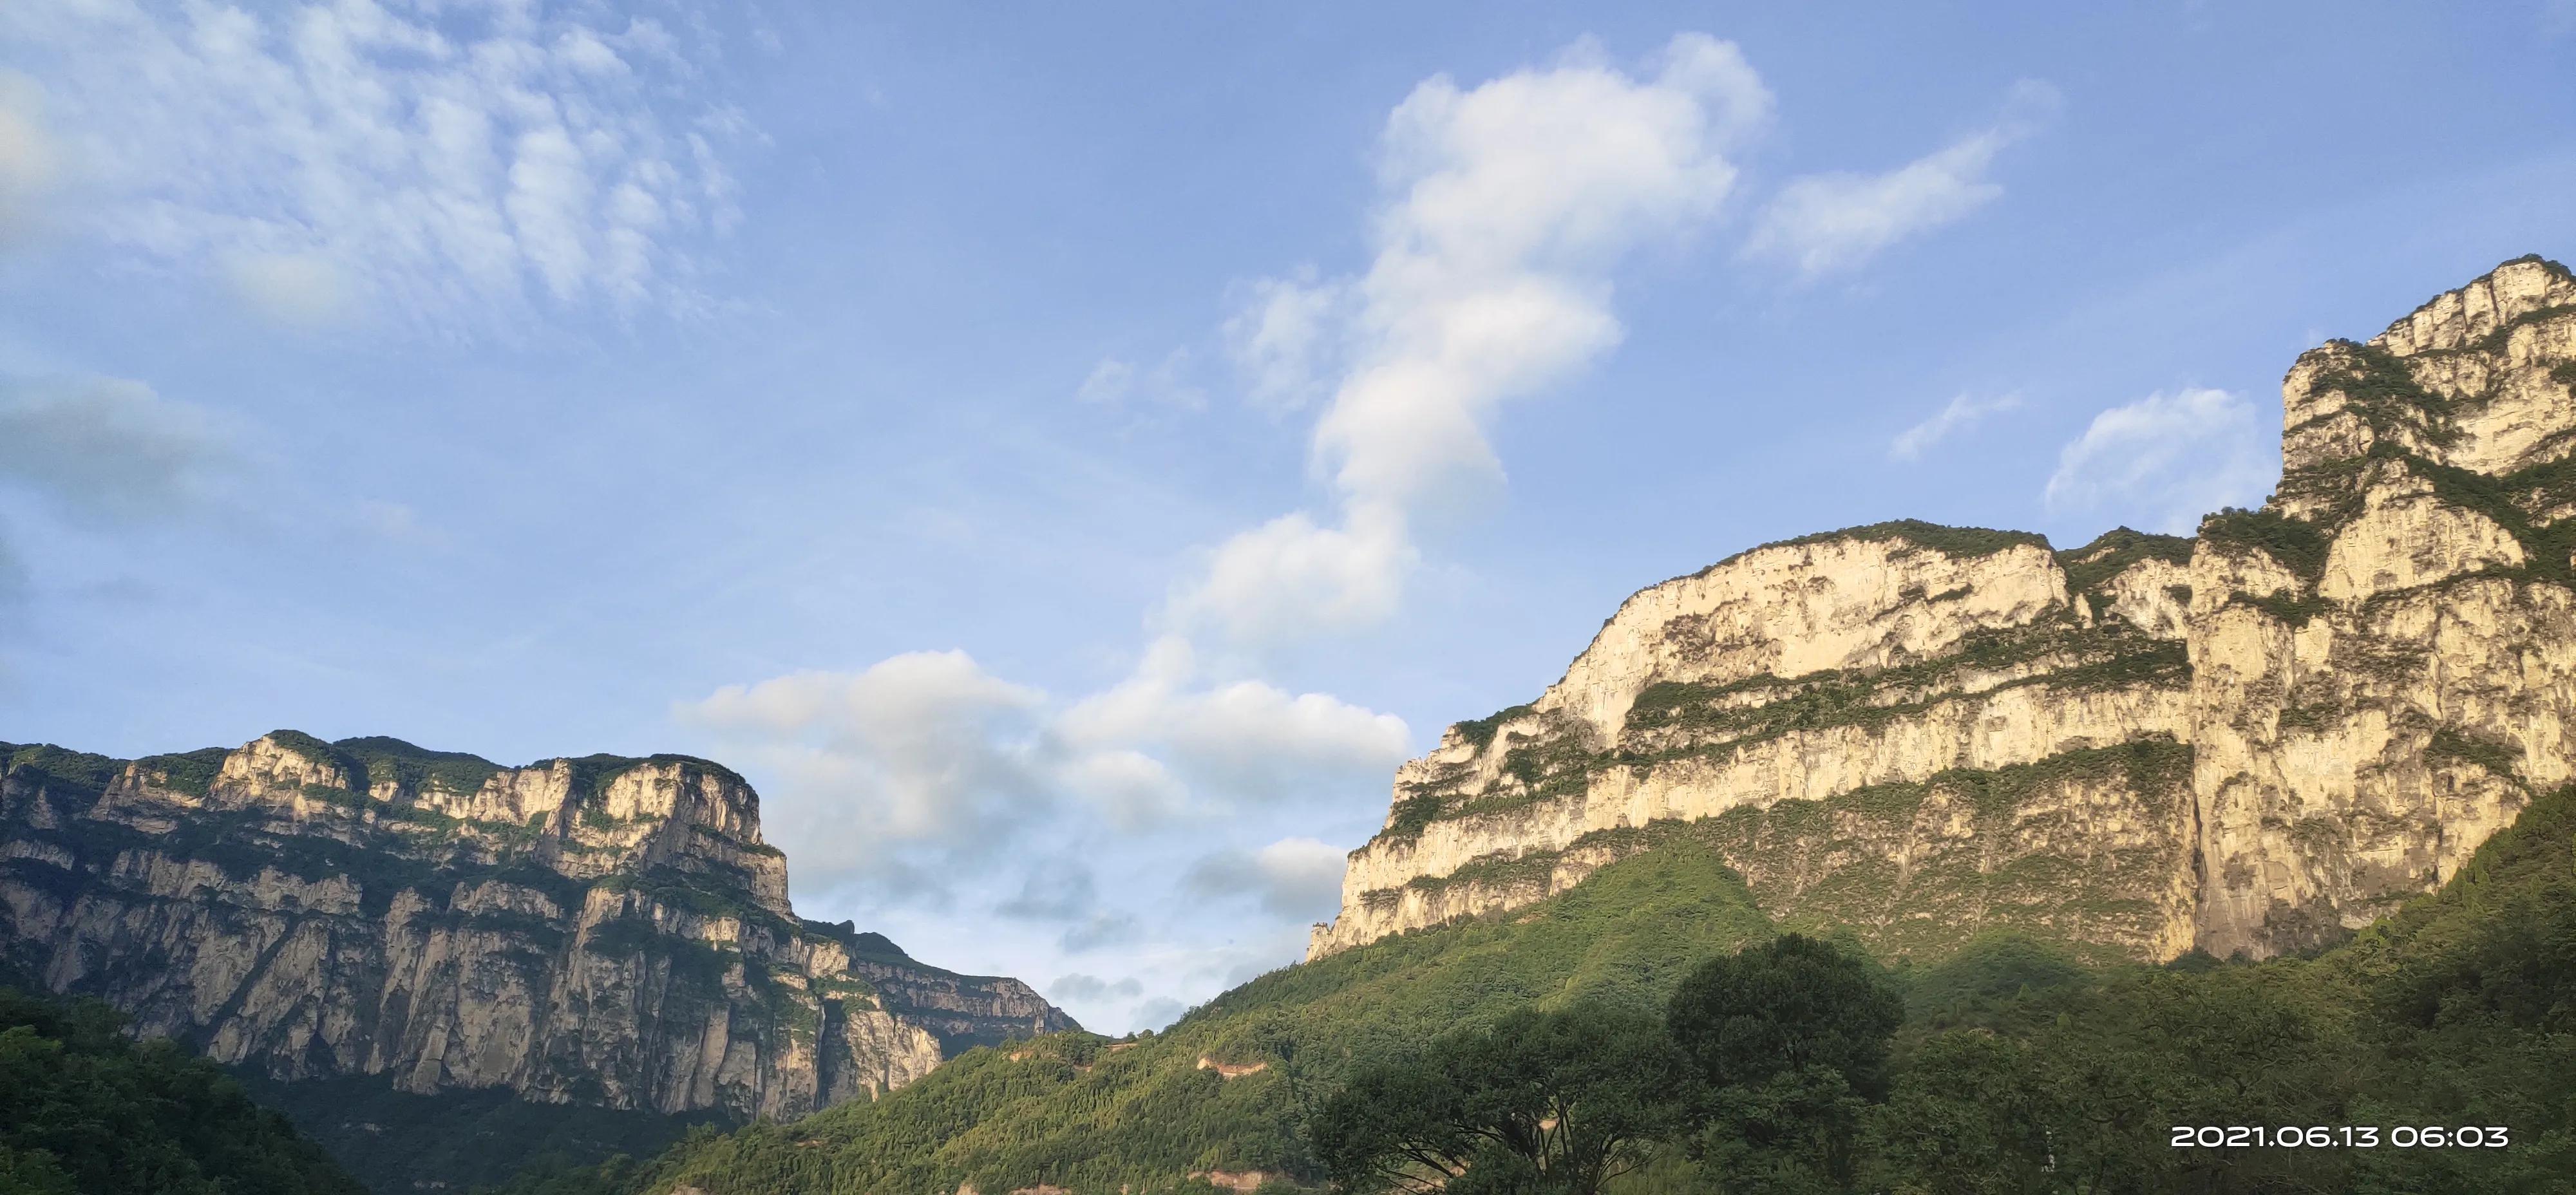
[[[1072, 1028], [1012, 979], [860, 963], [881, 937], [796, 919], [760, 798], [706, 760], [296, 731], [5, 757], [10, 963], [276, 1079], [791, 1118], [912, 1082], [940, 1040]], [[953, 1007], [925, 1022], [907, 984]]]

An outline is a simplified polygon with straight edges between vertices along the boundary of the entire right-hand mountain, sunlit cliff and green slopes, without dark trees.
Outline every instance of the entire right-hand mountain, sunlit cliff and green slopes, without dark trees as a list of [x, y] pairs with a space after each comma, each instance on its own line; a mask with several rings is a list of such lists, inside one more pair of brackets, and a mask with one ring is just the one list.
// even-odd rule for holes
[[[1886, 523], [1638, 592], [1399, 773], [1303, 963], [1164, 1033], [974, 1051], [513, 1190], [1311, 1190], [1298, 1115], [1350, 1066], [1533, 1004], [1651, 1010], [1801, 927], [1909, 997], [1865, 1190], [2561, 1192], [2571, 304], [2519, 260], [2303, 355], [2280, 494], [2195, 538]], [[2257, 1123], [2512, 1146], [2169, 1143]], [[1680, 1159], [1623, 1182], [1718, 1190]]]

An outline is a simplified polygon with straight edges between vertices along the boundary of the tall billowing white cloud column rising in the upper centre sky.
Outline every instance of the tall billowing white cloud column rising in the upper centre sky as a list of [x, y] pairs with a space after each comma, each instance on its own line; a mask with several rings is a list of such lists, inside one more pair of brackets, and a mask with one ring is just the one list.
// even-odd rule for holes
[[1260, 644], [1394, 613], [1412, 518], [1499, 482], [1484, 422], [1618, 343], [1610, 268], [1716, 214], [1726, 155], [1770, 106], [1705, 33], [1638, 75], [1579, 44], [1476, 88], [1414, 88], [1378, 144], [1370, 268], [1255, 283], [1226, 322], [1255, 402], [1296, 404], [1340, 363], [1311, 443], [1340, 525], [1293, 513], [1231, 538], [1175, 595], [1180, 623]]

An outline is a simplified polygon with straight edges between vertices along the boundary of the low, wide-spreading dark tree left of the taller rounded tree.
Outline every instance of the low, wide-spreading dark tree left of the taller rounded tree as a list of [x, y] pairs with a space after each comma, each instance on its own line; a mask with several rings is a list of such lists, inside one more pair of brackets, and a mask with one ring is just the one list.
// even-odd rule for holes
[[1358, 1069], [1309, 1120], [1350, 1192], [1595, 1195], [1682, 1115], [1687, 1069], [1643, 1012], [1512, 1012]]

